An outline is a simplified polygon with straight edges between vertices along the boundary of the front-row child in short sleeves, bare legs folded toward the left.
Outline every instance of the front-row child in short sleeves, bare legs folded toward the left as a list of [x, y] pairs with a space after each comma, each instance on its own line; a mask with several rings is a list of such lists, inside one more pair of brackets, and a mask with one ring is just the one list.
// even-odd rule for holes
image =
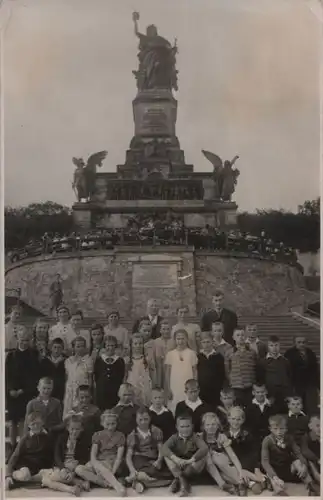
[[93, 435], [91, 461], [86, 465], [78, 465], [76, 473], [90, 483], [102, 488], [112, 487], [120, 496], [125, 496], [126, 489], [116, 478], [125, 449], [125, 437], [117, 431], [117, 421], [117, 414], [113, 410], [106, 410], [102, 414], [103, 430]]

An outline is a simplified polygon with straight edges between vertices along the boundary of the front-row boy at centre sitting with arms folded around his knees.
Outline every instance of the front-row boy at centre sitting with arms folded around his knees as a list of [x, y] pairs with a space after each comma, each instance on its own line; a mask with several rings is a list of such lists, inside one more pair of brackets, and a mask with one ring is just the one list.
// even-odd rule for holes
[[177, 433], [164, 443], [162, 455], [174, 476], [171, 493], [179, 491], [180, 496], [187, 496], [190, 490], [188, 478], [204, 469], [208, 447], [203, 439], [194, 434], [189, 415], [177, 417], [176, 429]]

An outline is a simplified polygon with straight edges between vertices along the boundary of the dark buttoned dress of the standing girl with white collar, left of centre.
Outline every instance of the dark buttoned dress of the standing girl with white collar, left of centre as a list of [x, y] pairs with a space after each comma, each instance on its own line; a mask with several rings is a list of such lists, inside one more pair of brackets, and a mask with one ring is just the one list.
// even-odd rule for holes
[[95, 360], [95, 402], [101, 411], [113, 408], [117, 404], [124, 376], [125, 362], [122, 358], [117, 358], [113, 363], [107, 363], [101, 356]]

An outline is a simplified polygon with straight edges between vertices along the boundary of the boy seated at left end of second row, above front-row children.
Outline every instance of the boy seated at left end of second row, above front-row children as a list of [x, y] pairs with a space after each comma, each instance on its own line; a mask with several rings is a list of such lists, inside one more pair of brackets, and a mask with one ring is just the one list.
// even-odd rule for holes
[[38, 382], [38, 397], [32, 399], [27, 404], [25, 417], [25, 432], [28, 432], [28, 415], [39, 412], [44, 420], [44, 427], [47, 431], [60, 431], [64, 428], [62, 422], [62, 405], [58, 399], [52, 398], [53, 381], [48, 377], [43, 377]]

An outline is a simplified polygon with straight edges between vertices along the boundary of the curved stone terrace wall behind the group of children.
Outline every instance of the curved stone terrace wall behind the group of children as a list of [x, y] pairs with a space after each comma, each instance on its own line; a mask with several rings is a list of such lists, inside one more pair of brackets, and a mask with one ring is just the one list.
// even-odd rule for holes
[[123, 317], [145, 312], [159, 298], [165, 315], [187, 304], [191, 315], [211, 305], [216, 289], [238, 314], [285, 314], [309, 299], [302, 274], [282, 263], [193, 249], [118, 248], [36, 257], [7, 268], [6, 288], [21, 288], [21, 298], [49, 312], [49, 286], [60, 274], [64, 302], [86, 316], [105, 316], [117, 308]]

